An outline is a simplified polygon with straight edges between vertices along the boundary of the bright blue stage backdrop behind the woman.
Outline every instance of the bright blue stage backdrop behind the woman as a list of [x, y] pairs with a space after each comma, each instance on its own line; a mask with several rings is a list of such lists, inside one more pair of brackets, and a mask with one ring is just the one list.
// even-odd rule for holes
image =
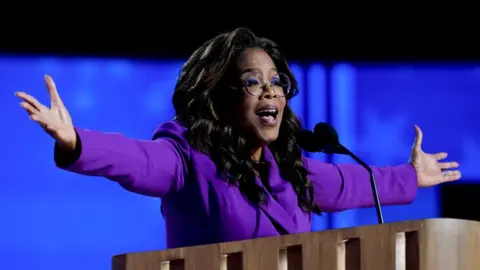
[[[171, 94], [182, 61], [0, 57], [0, 266], [25, 270], [109, 269], [118, 253], [162, 249], [160, 200], [124, 191], [101, 178], [55, 168], [53, 141], [28, 120], [13, 93], [48, 103], [51, 74], [80, 127], [149, 139], [172, 118]], [[414, 124], [427, 151], [445, 150], [479, 179], [480, 71], [474, 66], [292, 64], [301, 94], [292, 106], [304, 125], [330, 119], [344, 144], [368, 163], [408, 160]], [[327, 79], [330, 83], [327, 84]], [[329, 87], [327, 88], [327, 85]], [[330, 110], [328, 110], [330, 108]], [[325, 159], [321, 154], [313, 157]], [[334, 157], [335, 162], [352, 162]], [[420, 190], [409, 206], [385, 207], [386, 221], [436, 217], [437, 189]], [[375, 223], [362, 209], [315, 217], [314, 230]]]

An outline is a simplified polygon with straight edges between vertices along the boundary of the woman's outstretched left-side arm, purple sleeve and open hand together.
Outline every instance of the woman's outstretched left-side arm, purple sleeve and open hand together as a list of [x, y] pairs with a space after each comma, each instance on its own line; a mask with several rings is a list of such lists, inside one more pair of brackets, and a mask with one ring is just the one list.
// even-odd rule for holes
[[182, 150], [186, 147], [175, 141], [179, 134], [165, 134], [175, 129], [167, 125], [167, 130], [158, 130], [165, 136], [141, 141], [75, 128], [52, 77], [45, 75], [44, 80], [50, 107], [25, 92], [15, 95], [22, 100], [20, 106], [30, 119], [55, 140], [57, 166], [83, 175], [103, 176], [148, 196], [163, 197], [183, 186], [187, 166]]

